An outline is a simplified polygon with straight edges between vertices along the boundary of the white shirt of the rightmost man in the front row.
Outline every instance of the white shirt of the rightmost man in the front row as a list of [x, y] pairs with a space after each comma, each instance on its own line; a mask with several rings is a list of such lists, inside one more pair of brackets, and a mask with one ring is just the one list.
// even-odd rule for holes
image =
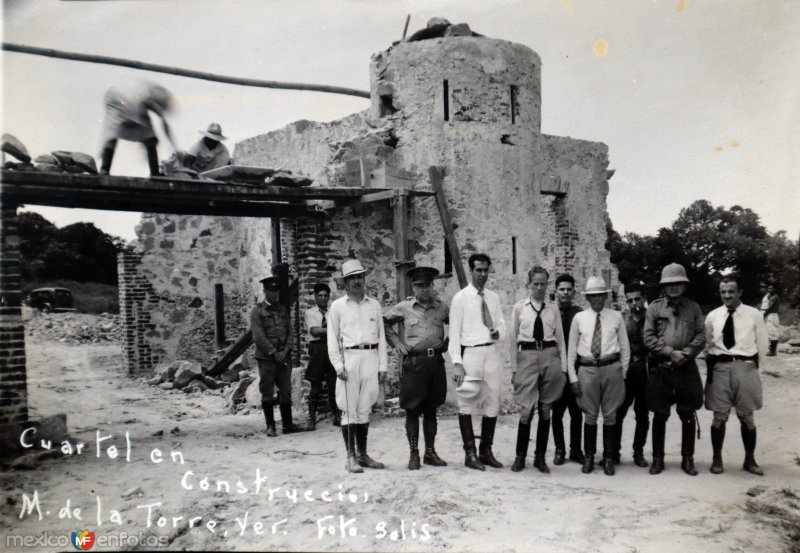
[[717, 307], [706, 316], [706, 350], [711, 355], [758, 355], [761, 363], [769, 349], [764, 315], [755, 307], [743, 303], [733, 312], [733, 337], [736, 344], [728, 349], [722, 343], [722, 329], [728, 320], [728, 308]]

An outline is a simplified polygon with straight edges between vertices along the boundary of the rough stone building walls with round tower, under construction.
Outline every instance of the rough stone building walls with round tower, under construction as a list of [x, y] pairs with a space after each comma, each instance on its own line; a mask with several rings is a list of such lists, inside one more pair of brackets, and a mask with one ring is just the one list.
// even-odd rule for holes
[[[571, 272], [579, 292], [593, 274], [616, 284], [604, 249], [608, 149], [541, 133], [541, 61], [535, 52], [473, 37], [400, 43], [373, 56], [371, 72], [369, 109], [330, 123], [298, 121], [244, 140], [235, 147], [235, 162], [288, 168], [314, 178], [314, 186], [419, 189], [430, 186], [429, 167], [444, 166], [462, 261], [466, 266], [478, 251], [492, 256], [489, 286], [500, 295], [508, 322], [511, 306], [527, 293], [527, 270], [534, 264], [551, 275]], [[543, 195], [543, 189], [566, 193]], [[407, 238], [416, 263], [445, 270], [434, 200], [412, 198], [410, 214]], [[300, 312], [312, 305], [318, 281], [331, 286], [334, 298], [343, 293], [335, 276], [349, 257], [371, 269], [373, 296], [384, 305], [398, 300], [392, 218], [387, 201], [281, 221], [284, 260], [299, 278]], [[165, 232], [175, 221], [178, 226]], [[159, 326], [172, 324], [169, 336], [158, 331], [150, 340], [159, 351], [180, 351], [182, 336], [206, 321], [202, 311], [183, 304], [213, 297], [208, 286], [214, 279], [232, 283], [240, 312], [252, 305], [273, 257], [271, 225], [266, 219], [208, 217], [149, 222], [140, 232], [142, 266], [154, 290], [168, 298], [154, 315]], [[212, 234], [199, 236], [204, 230]], [[204, 240], [201, 248], [191, 246], [195, 239]], [[448, 301], [459, 288], [454, 276], [436, 287]], [[304, 334], [301, 341], [304, 351]]]

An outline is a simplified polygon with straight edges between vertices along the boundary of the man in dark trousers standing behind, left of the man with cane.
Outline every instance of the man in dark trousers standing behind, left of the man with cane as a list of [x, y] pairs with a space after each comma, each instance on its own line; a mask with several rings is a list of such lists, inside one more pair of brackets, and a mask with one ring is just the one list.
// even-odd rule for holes
[[328, 300], [331, 289], [324, 282], [314, 285], [316, 305], [305, 312], [308, 329], [308, 367], [306, 380], [311, 383], [308, 393], [308, 419], [311, 430], [317, 428], [317, 405], [322, 393], [322, 383], [328, 388], [328, 405], [333, 415], [333, 425], [341, 426], [342, 414], [336, 406], [336, 371], [328, 357]]

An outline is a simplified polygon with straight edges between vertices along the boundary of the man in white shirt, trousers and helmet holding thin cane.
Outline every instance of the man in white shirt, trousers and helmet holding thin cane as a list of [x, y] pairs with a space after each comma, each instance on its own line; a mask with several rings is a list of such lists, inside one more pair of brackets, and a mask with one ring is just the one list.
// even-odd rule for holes
[[346, 468], [355, 473], [364, 472], [361, 467], [385, 468], [367, 455], [369, 414], [386, 377], [387, 358], [381, 304], [365, 293], [366, 272], [356, 259], [342, 263], [347, 294], [331, 304], [328, 317], [328, 356], [338, 377]]

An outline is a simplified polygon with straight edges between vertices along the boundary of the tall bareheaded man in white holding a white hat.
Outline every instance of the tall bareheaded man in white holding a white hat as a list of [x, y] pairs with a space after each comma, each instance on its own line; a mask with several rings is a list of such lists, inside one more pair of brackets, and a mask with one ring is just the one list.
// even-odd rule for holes
[[[470, 284], [453, 296], [450, 306], [450, 359], [458, 394], [458, 425], [466, 453], [464, 465], [486, 470], [484, 465], [503, 468], [492, 453], [503, 360], [496, 342], [506, 335], [500, 298], [486, 289], [492, 261], [484, 253], [469, 257]], [[480, 457], [475, 451], [472, 415], [483, 413]]]

